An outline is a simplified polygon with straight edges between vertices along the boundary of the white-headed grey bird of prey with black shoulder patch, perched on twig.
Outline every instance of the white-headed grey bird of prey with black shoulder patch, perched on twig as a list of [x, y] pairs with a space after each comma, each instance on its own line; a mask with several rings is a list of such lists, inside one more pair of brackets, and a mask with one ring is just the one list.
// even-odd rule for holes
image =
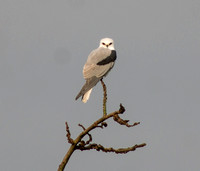
[[113, 68], [116, 58], [114, 41], [111, 38], [101, 39], [99, 47], [89, 54], [83, 67], [83, 77], [86, 82], [75, 100], [82, 96], [83, 103], [88, 101], [93, 87]]

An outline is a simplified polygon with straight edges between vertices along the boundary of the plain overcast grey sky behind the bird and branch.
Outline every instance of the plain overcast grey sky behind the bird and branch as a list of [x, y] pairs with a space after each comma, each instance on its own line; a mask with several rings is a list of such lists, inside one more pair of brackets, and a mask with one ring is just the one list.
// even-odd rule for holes
[[199, 0], [1, 0], [0, 169], [56, 170], [72, 137], [101, 117], [98, 84], [83, 104], [82, 67], [111, 37], [118, 58], [105, 78], [108, 112], [126, 107], [135, 128], [108, 122], [93, 141], [147, 146], [127, 155], [72, 155], [67, 170], [200, 169]]

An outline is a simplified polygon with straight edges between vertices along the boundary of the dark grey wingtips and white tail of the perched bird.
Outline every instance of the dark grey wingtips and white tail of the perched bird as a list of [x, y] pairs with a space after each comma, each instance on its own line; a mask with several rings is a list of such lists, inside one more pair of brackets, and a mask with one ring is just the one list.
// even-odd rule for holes
[[[88, 96], [88, 99], [89, 99], [89, 97], [90, 97], [90, 94], [91, 94], [91, 89], [99, 82], [99, 80], [100, 80], [101, 78], [97, 78], [97, 77], [95, 77], [95, 76], [93, 76], [93, 77], [91, 77], [91, 78], [89, 78], [89, 79], [87, 79], [86, 80], [86, 83], [83, 85], [83, 87], [82, 87], [82, 89], [81, 89], [81, 91], [78, 93], [78, 95], [76, 96], [76, 100], [79, 98], [79, 97], [81, 97], [82, 96], [82, 99], [84, 99], [84, 96], [85, 96], [85, 98]], [[90, 92], [89, 92], [90, 91]], [[88, 93], [88, 94], [86, 94], [86, 93]], [[87, 99], [87, 100], [88, 100]], [[86, 102], [87, 102], [87, 100], [86, 100]], [[83, 101], [83, 100], [82, 100]], [[84, 102], [84, 101], [83, 101]], [[84, 103], [86, 103], [86, 102], [84, 102]]]

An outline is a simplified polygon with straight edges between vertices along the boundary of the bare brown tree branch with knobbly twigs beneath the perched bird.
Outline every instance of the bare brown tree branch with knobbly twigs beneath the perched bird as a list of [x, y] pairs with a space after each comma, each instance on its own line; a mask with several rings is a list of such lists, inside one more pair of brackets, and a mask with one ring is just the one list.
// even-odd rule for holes
[[[70, 146], [68, 152], [66, 153], [66, 155], [64, 156], [61, 164], [59, 165], [58, 171], [64, 170], [66, 164], [68, 163], [71, 155], [73, 154], [73, 152], [75, 150], [85, 151], [85, 150], [95, 149], [97, 151], [102, 151], [102, 152], [114, 152], [116, 154], [125, 154], [125, 153], [128, 153], [130, 151], [134, 151], [137, 148], [141, 148], [141, 147], [146, 146], [145, 143], [142, 143], [142, 144], [136, 144], [132, 147], [114, 149], [112, 147], [106, 148], [106, 147], [102, 146], [101, 144], [91, 143], [92, 142], [92, 135], [89, 132], [92, 131], [95, 128], [102, 128], [103, 129], [103, 128], [107, 127], [107, 123], [104, 122], [104, 121], [108, 120], [109, 118], [113, 118], [113, 120], [115, 122], [117, 122], [118, 124], [125, 125], [127, 127], [133, 127], [133, 126], [140, 124], [140, 122], [135, 122], [133, 124], [129, 124], [128, 123], [129, 120], [123, 120], [122, 118], [119, 117], [119, 114], [123, 114], [125, 112], [125, 108], [122, 106], [122, 104], [120, 104], [119, 110], [112, 112], [110, 114], [107, 114], [107, 111], [106, 111], [106, 102], [107, 102], [106, 85], [104, 84], [103, 80], [101, 80], [101, 84], [102, 84], [103, 91], [104, 91], [103, 116], [101, 118], [99, 118], [97, 121], [95, 121], [88, 128], [85, 128], [83, 125], [79, 124], [79, 126], [83, 129], [83, 131], [78, 135], [78, 137], [75, 140], [71, 138], [69, 126], [68, 126], [67, 122], [65, 123], [66, 124], [66, 132], [67, 132], [66, 137], [68, 139], [68, 142], [71, 144], [71, 146]], [[87, 141], [84, 141], [83, 138], [86, 135], [89, 137], [89, 139]]]

